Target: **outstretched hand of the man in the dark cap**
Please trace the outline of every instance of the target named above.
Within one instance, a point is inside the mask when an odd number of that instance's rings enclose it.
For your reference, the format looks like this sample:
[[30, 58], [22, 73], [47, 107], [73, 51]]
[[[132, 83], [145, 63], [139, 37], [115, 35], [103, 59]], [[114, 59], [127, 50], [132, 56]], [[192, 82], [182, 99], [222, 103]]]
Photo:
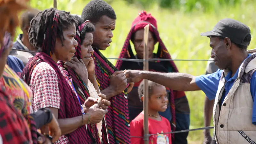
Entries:
[[124, 74], [128, 83], [137, 83], [143, 79], [140, 70], [126, 70]]

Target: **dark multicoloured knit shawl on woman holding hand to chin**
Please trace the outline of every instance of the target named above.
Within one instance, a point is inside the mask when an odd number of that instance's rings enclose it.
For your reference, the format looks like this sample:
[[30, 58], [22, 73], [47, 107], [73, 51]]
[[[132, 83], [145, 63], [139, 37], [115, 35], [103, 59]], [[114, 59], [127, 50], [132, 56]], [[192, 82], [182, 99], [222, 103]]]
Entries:
[[[77, 57], [77, 59], [82, 59], [81, 56], [81, 39], [80, 39], [80, 32], [82, 31], [82, 29], [84, 28], [85, 24], [81, 24], [76, 28], [76, 41], [78, 43], [77, 47], [76, 47], [76, 53], [75, 53], [75, 57]], [[84, 101], [90, 97], [90, 93], [89, 90], [87, 88], [87, 86], [84, 84], [84, 82], [81, 80], [81, 78], [76, 74], [76, 72], [70, 68], [70, 67], [64, 67], [64, 63], [62, 61], [58, 62], [58, 65], [63, 69], [63, 72], [68, 76], [71, 77], [72, 79], [72, 83], [74, 84], [74, 87], [76, 89], [76, 92], [79, 96], [81, 105], [84, 104]], [[105, 124], [103, 122], [102, 127], [105, 127]], [[92, 136], [94, 138], [94, 140], [96, 141], [96, 144], [100, 144], [100, 138], [99, 138], [99, 133], [97, 130], [97, 125], [96, 124], [88, 124], [87, 128], [89, 128], [90, 132], [92, 133]], [[104, 131], [105, 130], [105, 131]], [[106, 128], [102, 129], [102, 144], [107, 144], [108, 140], [107, 140], [107, 135], [106, 135]]]

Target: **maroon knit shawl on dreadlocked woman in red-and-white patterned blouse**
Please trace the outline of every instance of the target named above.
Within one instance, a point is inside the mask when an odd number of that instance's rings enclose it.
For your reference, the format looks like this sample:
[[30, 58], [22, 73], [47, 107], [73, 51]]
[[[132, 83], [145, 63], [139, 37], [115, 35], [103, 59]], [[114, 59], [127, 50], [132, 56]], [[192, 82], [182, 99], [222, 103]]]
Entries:
[[[44, 36], [42, 46], [43, 52], [37, 52], [36, 55], [28, 61], [26, 67], [21, 73], [21, 78], [23, 78], [23, 80], [29, 85], [32, 72], [36, 65], [40, 62], [48, 63], [55, 70], [58, 77], [58, 87], [60, 92], [60, 109], [58, 109], [58, 119], [81, 116], [81, 105], [76, 97], [76, 94], [72, 91], [59, 67], [50, 56], [55, 48], [59, 24], [59, 12], [56, 11], [51, 18], [53, 20], [52, 25], [48, 26]], [[66, 136], [68, 136], [70, 144], [91, 144], [91, 139], [87, 134], [85, 125], [79, 127], [74, 132], [66, 134]]]

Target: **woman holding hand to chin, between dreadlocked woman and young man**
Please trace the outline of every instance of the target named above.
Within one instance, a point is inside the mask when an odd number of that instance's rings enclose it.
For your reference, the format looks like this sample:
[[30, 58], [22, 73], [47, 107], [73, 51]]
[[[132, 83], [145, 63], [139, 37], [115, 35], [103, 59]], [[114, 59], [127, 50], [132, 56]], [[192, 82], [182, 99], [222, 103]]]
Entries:
[[[59, 61], [58, 65], [63, 69], [64, 73], [69, 77], [69, 79], [72, 80], [74, 89], [82, 103], [84, 103], [86, 99], [92, 97], [96, 99], [100, 96], [106, 99], [104, 94], [98, 94], [96, 92], [96, 95], [93, 95], [92, 91], [95, 91], [94, 87], [93, 89], [88, 89], [87, 87], [87, 85], [92, 84], [91, 81], [93, 81], [96, 82], [96, 84], [94, 84], [97, 86], [97, 90], [99, 91], [95, 75], [89, 75], [90, 77], [86, 77], [87, 79], [82, 79], [84, 77], [83, 75], [88, 75], [87, 68], [94, 72], [94, 62], [91, 57], [91, 54], [94, 52], [92, 49], [92, 32], [94, 31], [94, 26], [89, 22], [89, 20], [83, 22], [79, 16], [75, 16], [75, 18], [78, 21], [78, 24], [76, 25], [76, 40], [78, 45], [76, 47], [75, 57], [69, 62], [65, 62], [65, 64], [63, 61]], [[89, 62], [91, 65], [88, 65]], [[88, 80], [88, 78], [91, 79], [91, 81]], [[102, 100], [102, 103], [105, 105], [101, 105], [101, 107], [104, 109], [107, 108], [106, 106], [110, 105], [110, 102], [105, 99]], [[96, 124], [90, 124], [87, 125], [87, 127], [90, 128], [92, 136], [97, 144], [100, 144], [101, 140], [103, 144], [108, 143], [106, 126], [102, 129], [102, 122], [98, 123], [97, 126]]]

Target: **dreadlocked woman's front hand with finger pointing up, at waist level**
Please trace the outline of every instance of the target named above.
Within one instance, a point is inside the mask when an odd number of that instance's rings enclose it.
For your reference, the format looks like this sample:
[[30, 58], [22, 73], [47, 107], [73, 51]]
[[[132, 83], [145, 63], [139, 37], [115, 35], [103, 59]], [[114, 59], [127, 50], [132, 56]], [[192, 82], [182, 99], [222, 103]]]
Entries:
[[89, 123], [98, 124], [104, 118], [105, 114], [108, 113], [108, 109], [100, 109], [100, 105], [102, 104], [102, 98], [98, 99], [97, 104], [94, 104], [89, 108], [88, 114], [90, 116]]

